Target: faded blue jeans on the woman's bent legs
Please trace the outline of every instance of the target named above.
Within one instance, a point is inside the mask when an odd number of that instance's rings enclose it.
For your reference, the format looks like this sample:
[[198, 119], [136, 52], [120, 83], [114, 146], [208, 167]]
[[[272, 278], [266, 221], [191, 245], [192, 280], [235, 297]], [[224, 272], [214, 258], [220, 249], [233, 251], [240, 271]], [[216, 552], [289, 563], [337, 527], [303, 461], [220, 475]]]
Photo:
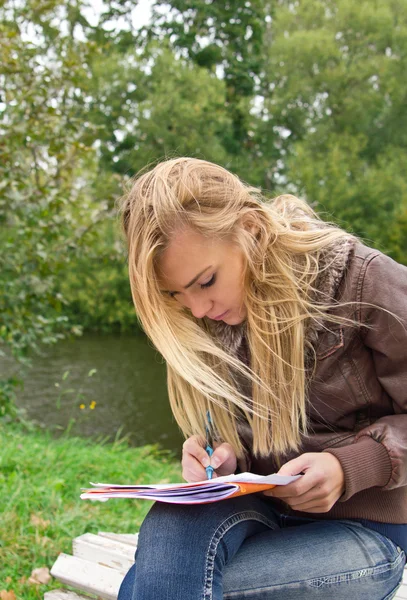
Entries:
[[290, 517], [256, 495], [156, 503], [118, 600], [389, 600], [404, 564], [358, 522]]

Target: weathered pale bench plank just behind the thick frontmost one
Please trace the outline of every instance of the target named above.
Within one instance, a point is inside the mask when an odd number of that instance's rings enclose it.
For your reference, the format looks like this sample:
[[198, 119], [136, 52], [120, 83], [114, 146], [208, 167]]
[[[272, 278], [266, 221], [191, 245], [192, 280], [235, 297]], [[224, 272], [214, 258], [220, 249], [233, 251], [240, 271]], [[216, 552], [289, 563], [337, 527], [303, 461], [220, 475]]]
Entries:
[[73, 555], [127, 573], [134, 563], [134, 548], [107, 537], [85, 533], [72, 542]]

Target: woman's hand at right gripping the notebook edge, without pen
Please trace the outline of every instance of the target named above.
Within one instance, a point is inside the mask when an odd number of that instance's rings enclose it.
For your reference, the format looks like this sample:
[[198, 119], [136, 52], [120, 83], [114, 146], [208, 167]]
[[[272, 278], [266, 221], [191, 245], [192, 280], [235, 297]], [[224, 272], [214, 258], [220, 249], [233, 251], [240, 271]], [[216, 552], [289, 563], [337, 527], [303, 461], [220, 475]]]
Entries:
[[345, 491], [345, 476], [339, 460], [329, 452], [308, 452], [290, 460], [279, 475], [299, 475], [297, 481], [264, 492], [280, 498], [294, 510], [328, 512]]

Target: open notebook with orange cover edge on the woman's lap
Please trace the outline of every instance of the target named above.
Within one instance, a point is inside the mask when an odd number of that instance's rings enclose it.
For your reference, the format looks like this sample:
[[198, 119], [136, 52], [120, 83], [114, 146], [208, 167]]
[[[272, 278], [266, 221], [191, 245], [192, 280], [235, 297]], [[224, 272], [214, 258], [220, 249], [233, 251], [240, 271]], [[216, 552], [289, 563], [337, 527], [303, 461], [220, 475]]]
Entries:
[[206, 504], [226, 498], [254, 494], [269, 490], [276, 485], [286, 485], [301, 477], [283, 475], [254, 475], [239, 473], [215, 479], [205, 479], [196, 483], [164, 483], [157, 485], [115, 485], [111, 483], [91, 483], [91, 489], [84, 490], [82, 500], [109, 500], [109, 498], [144, 498], [168, 502], [170, 504]]

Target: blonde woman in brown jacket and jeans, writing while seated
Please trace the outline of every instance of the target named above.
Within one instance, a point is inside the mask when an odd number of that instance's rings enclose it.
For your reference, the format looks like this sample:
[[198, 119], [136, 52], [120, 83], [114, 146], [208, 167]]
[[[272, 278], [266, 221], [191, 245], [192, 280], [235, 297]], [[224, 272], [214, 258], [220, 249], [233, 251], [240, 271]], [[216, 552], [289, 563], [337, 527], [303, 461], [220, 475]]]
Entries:
[[392, 598], [407, 548], [407, 268], [197, 159], [138, 177], [122, 215], [184, 478], [209, 464], [302, 477], [154, 505], [119, 600]]

